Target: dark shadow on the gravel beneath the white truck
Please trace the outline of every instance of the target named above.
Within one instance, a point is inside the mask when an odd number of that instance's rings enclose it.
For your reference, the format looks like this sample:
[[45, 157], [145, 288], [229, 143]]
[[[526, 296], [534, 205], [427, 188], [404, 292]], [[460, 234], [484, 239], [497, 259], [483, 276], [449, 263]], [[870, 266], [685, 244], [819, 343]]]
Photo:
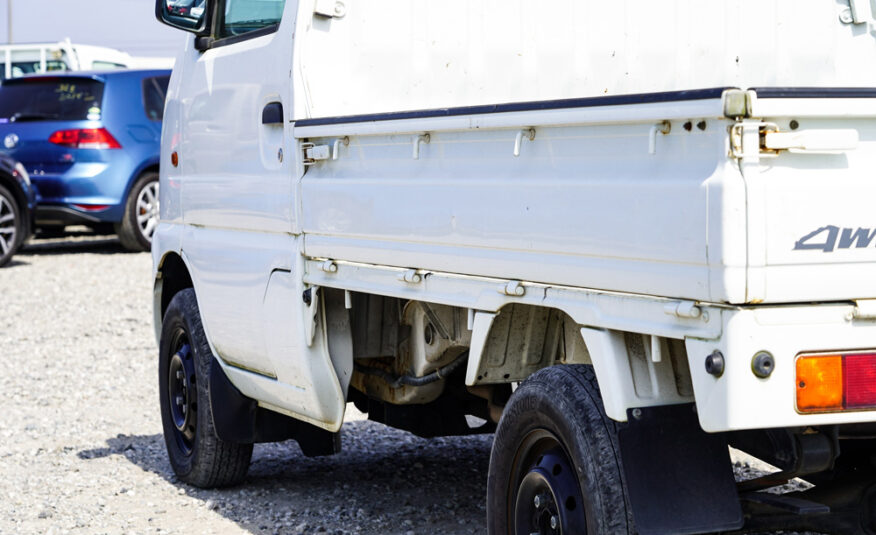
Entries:
[[256, 445], [246, 482], [219, 490], [176, 479], [161, 435], [118, 435], [78, 456], [122, 456], [253, 534], [485, 533], [492, 435], [427, 440], [356, 421], [342, 440], [321, 458], [294, 441]]

